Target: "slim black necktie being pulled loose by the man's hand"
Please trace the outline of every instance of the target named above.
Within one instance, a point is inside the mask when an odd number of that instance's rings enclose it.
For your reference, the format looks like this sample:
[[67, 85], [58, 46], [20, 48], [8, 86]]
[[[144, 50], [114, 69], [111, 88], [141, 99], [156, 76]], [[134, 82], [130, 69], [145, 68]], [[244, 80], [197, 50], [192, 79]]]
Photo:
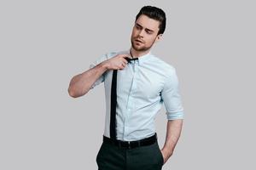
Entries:
[[[129, 63], [131, 60], [136, 60], [137, 58], [125, 58]], [[117, 71], [113, 70], [112, 84], [111, 84], [111, 105], [110, 105], [110, 138], [116, 140], [116, 78]]]

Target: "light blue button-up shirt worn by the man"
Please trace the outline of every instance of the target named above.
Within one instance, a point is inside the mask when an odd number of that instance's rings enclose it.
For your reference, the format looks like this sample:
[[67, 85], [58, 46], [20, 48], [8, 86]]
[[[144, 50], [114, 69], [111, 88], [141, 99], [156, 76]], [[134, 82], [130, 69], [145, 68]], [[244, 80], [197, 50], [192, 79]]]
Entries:
[[[117, 54], [130, 54], [130, 50], [105, 54], [96, 59], [90, 68]], [[104, 82], [106, 118], [104, 136], [110, 137], [110, 101], [113, 71], [99, 77], [90, 89]], [[154, 135], [154, 118], [162, 104], [168, 120], [183, 119], [183, 106], [178, 91], [176, 70], [172, 65], [150, 52], [131, 60], [117, 74], [117, 139], [133, 141]]]

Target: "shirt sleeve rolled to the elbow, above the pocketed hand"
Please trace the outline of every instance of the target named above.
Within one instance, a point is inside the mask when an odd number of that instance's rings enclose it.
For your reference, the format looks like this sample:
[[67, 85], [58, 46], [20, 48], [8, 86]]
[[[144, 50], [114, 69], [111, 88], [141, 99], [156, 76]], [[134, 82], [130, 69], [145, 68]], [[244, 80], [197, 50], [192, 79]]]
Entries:
[[161, 99], [166, 107], [168, 120], [183, 119], [183, 105], [178, 83], [176, 70], [173, 68], [161, 91]]

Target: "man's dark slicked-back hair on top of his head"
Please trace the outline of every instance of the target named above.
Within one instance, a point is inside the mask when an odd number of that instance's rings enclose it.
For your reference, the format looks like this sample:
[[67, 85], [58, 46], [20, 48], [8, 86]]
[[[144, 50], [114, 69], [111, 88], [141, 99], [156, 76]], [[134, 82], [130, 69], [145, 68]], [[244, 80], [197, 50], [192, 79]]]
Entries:
[[136, 16], [136, 20], [140, 15], [145, 14], [151, 19], [160, 21], [159, 34], [163, 34], [166, 30], [166, 13], [161, 9], [153, 6], [144, 6]]

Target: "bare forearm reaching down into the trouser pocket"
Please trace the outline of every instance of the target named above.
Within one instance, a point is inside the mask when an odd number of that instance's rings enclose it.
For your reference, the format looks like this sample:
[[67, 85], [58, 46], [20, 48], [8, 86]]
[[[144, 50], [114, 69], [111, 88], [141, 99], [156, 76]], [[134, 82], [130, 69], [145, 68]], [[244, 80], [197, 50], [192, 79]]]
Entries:
[[164, 144], [164, 147], [161, 150], [165, 163], [172, 156], [174, 148], [180, 137], [182, 126], [183, 126], [182, 119], [169, 120], [167, 122], [166, 143]]

